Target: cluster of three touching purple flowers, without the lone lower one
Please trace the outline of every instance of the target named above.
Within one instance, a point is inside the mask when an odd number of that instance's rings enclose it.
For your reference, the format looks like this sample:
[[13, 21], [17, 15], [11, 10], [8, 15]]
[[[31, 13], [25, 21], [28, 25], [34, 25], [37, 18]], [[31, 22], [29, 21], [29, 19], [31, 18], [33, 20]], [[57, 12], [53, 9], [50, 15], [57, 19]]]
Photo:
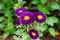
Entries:
[[15, 12], [17, 16], [20, 16], [19, 22], [23, 25], [30, 25], [34, 20], [39, 23], [46, 20], [46, 15], [42, 12], [28, 12], [25, 8], [19, 8]]

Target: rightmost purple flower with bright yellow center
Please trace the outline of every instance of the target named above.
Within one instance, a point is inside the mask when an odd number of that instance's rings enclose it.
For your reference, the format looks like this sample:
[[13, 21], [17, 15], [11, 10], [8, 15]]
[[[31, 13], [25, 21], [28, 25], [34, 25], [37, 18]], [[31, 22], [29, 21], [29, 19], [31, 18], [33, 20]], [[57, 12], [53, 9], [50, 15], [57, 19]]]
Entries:
[[46, 20], [46, 15], [43, 14], [42, 12], [34, 12], [34, 19], [37, 21], [37, 22], [44, 22]]

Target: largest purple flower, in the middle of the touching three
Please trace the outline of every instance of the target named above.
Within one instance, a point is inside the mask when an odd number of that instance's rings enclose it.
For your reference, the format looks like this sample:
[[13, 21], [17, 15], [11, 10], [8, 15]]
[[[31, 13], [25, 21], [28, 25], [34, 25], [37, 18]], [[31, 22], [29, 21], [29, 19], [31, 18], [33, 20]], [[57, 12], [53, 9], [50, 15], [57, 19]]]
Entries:
[[19, 21], [23, 25], [30, 25], [34, 22], [33, 14], [31, 12], [24, 12], [19, 18]]

